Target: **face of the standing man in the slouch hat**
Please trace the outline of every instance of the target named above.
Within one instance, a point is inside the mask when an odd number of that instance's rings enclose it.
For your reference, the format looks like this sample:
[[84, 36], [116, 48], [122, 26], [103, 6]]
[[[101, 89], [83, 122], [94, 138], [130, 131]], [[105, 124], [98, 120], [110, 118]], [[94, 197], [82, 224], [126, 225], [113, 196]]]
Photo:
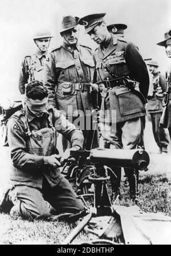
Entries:
[[73, 29], [67, 30], [62, 33], [64, 42], [68, 44], [76, 44], [79, 38], [79, 27], [76, 26]]

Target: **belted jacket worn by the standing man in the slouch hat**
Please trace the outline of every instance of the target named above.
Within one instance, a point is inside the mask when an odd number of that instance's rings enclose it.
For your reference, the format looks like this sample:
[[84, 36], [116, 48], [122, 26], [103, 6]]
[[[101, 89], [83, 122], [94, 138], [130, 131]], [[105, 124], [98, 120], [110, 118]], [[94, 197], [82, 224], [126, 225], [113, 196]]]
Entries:
[[[95, 64], [91, 48], [78, 44], [71, 47], [65, 43], [52, 50], [44, 67], [44, 84], [49, 92], [49, 103], [59, 110], [72, 113], [94, 108], [90, 94]], [[86, 84], [85, 87], [80, 85]], [[72, 114], [71, 113], [71, 114]]]

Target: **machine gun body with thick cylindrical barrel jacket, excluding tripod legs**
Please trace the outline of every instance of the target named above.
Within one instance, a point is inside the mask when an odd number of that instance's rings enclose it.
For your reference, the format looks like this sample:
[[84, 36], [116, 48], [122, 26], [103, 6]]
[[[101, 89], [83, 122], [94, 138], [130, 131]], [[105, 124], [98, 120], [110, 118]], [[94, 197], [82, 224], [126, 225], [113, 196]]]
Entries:
[[78, 194], [87, 194], [91, 190], [89, 174], [100, 176], [105, 172], [114, 176], [110, 166], [146, 170], [149, 164], [148, 153], [143, 149], [91, 149], [91, 151], [71, 151], [71, 157], [63, 166], [62, 173], [69, 181], [75, 181]]

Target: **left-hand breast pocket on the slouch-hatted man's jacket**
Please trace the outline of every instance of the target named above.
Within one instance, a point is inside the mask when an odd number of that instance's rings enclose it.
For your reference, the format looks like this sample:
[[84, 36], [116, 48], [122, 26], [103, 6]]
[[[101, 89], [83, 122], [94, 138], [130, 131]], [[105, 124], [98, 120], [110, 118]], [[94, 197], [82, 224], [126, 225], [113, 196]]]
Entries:
[[59, 82], [76, 82], [75, 63], [74, 60], [56, 63], [56, 73], [59, 75]]

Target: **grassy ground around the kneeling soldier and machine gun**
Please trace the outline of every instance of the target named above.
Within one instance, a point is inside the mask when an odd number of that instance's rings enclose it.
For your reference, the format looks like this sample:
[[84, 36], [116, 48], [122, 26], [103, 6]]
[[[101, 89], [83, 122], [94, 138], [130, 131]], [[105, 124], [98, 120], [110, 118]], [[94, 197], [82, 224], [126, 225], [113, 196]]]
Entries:
[[[148, 124], [149, 125], [149, 124]], [[171, 216], [171, 159], [169, 155], [156, 154], [157, 148], [151, 133], [146, 134], [147, 150], [150, 152], [150, 164], [148, 172], [140, 172], [140, 201], [139, 206], [144, 212], [162, 212]], [[149, 143], [149, 144], [148, 144]], [[169, 149], [170, 151], [170, 149]], [[9, 178], [8, 148], [0, 148], [0, 190]], [[120, 205], [131, 206], [129, 200], [129, 188], [124, 186], [124, 178], [121, 181]], [[8, 214], [0, 214], [0, 244], [34, 244], [34, 245], [60, 245], [64, 238], [70, 234], [74, 224], [66, 222], [48, 222], [27, 220], [12, 220]], [[74, 244], [81, 243], [89, 238], [81, 233]]]

